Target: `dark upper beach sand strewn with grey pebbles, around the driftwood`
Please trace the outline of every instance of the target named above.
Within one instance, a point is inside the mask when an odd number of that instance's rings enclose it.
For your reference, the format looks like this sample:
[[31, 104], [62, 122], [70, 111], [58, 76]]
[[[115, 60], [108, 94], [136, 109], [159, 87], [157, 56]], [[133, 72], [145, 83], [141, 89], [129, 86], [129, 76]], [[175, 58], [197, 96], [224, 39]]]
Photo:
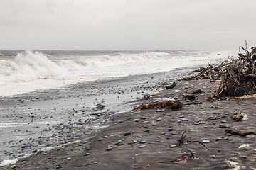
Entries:
[[[203, 93], [195, 96], [202, 104], [182, 98], [185, 91], [199, 88]], [[209, 80], [178, 81], [174, 89], [136, 102], [175, 98], [183, 103], [181, 111], [150, 109], [115, 114], [109, 127], [95, 136], [38, 152], [0, 169], [255, 169], [255, 135], [225, 135], [225, 130], [255, 131], [255, 98], [208, 101], [217, 88], [218, 82]], [[245, 118], [233, 120], [235, 111], [242, 111]], [[177, 140], [184, 131], [188, 139], [204, 141], [208, 149], [197, 142], [178, 147]], [[195, 156], [191, 161], [157, 164], [191, 152]]]

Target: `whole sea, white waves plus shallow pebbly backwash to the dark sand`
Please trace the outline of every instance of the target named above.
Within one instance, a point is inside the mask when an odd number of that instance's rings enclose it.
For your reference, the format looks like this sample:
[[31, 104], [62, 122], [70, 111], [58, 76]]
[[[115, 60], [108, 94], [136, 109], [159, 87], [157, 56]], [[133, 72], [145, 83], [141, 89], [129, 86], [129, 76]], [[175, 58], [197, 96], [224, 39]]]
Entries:
[[0, 51], [0, 166], [91, 137], [145, 93], [233, 54]]

